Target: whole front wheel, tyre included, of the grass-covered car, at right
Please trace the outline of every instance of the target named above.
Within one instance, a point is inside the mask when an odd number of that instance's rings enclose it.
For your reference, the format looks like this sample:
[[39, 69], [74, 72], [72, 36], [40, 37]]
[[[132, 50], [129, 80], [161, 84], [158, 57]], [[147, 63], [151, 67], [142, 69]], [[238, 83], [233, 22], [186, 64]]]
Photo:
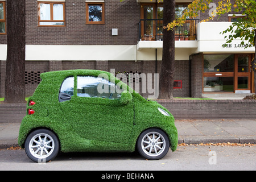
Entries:
[[147, 129], [139, 135], [137, 148], [139, 154], [148, 160], [163, 158], [169, 151], [170, 140], [160, 129]]

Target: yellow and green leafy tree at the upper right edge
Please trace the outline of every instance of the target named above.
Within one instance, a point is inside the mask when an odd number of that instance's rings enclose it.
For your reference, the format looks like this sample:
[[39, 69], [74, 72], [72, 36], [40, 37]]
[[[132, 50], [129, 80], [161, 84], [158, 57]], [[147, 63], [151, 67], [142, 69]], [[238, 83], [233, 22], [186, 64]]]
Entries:
[[[176, 18], [174, 21], [167, 24], [167, 30], [172, 30], [175, 26], [180, 26], [184, 24], [185, 17], [189, 16], [191, 18], [196, 18], [198, 12], [201, 11], [205, 13], [205, 10], [209, 9], [209, 5], [212, 5], [212, 0], [194, 0], [187, 9], [184, 10], [183, 14]], [[212, 11], [209, 11], [209, 17], [202, 20], [206, 22], [212, 20], [216, 15], [223, 15], [225, 13], [230, 13], [234, 8], [235, 12], [242, 11], [242, 15], [245, 15], [243, 18], [238, 18], [237, 22], [233, 22], [232, 26], [228, 29], [222, 31], [222, 34], [230, 32], [229, 36], [225, 36], [226, 43], [232, 42], [232, 40], [240, 38], [241, 44], [245, 45], [245, 48], [254, 46], [255, 47], [255, 56], [251, 63], [251, 67], [254, 70], [254, 88], [256, 92], [256, 2], [255, 0], [234, 0], [232, 4], [230, 0], [219, 1], [216, 8]], [[233, 15], [236, 16], [236, 15]], [[245, 42], [246, 41], [246, 42]]]

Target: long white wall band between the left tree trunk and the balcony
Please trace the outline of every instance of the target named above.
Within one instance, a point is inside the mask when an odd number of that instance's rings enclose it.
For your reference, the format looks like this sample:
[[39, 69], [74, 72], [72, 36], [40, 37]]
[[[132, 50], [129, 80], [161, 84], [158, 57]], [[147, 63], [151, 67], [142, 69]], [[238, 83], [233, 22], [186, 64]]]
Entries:
[[136, 46], [26, 45], [26, 60], [135, 60]]

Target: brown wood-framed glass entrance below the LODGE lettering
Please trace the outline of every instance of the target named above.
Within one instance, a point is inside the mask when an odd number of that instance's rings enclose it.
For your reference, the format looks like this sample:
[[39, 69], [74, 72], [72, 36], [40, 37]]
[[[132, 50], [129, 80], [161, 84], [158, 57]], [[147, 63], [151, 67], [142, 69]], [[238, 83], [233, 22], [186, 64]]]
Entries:
[[204, 93], [250, 93], [251, 55], [204, 55]]

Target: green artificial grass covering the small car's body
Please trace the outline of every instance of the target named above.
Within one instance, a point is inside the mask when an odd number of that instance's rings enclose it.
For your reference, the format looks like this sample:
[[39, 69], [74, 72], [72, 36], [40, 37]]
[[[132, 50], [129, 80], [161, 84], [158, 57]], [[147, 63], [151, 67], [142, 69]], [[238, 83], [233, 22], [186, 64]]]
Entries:
[[[121, 85], [121, 99], [89, 98], [77, 96], [77, 76], [105, 74], [109, 80]], [[59, 102], [63, 80], [74, 76], [74, 95], [71, 100]], [[172, 151], [177, 147], [177, 129], [174, 117], [156, 101], [147, 101], [109, 72], [95, 70], [72, 70], [42, 73], [42, 81], [29, 101], [35, 114], [26, 115], [20, 125], [19, 145], [24, 147], [27, 135], [38, 128], [56, 133], [63, 152], [77, 151], [126, 151], [135, 150], [137, 138], [142, 131], [155, 127], [162, 129], [170, 139]], [[130, 92], [132, 91], [132, 92]], [[159, 112], [158, 107], [170, 116]]]

